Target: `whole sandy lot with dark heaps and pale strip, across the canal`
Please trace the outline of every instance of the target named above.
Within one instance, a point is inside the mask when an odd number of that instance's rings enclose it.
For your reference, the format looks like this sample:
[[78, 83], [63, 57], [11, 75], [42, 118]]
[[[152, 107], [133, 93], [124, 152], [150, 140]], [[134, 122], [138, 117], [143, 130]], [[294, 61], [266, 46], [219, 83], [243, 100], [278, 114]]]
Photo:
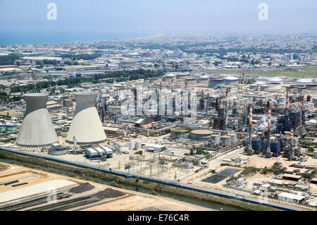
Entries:
[[211, 209], [137, 191], [0, 163], [0, 210], [196, 211]]

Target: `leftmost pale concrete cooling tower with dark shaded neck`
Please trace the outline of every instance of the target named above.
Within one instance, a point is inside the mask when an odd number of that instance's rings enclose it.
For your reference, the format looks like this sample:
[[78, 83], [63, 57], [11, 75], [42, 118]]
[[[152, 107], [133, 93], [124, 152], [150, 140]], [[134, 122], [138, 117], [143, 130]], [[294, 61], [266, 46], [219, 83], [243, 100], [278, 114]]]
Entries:
[[58, 138], [46, 109], [48, 94], [25, 94], [25, 116], [16, 145], [20, 147], [45, 147], [58, 142]]

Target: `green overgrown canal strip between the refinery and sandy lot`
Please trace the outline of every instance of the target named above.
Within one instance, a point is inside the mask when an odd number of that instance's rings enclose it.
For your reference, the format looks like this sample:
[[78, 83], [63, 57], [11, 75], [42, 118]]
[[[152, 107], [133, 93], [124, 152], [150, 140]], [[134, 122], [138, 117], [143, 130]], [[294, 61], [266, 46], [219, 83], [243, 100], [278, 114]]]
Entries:
[[[113, 185], [120, 185], [120, 183], [126, 183], [130, 185], [136, 185], [142, 188], [148, 188], [151, 190], [161, 190], [164, 193], [170, 193], [174, 195], [180, 195], [185, 197], [192, 197], [194, 199], [204, 200], [206, 202], [218, 202], [224, 205], [231, 205], [234, 207], [239, 207], [241, 209], [252, 210], [252, 211], [280, 211], [273, 207], [266, 207], [263, 205], [256, 205], [247, 202], [242, 202], [240, 200], [234, 200], [226, 197], [218, 197], [216, 195], [210, 195], [206, 193], [198, 193], [193, 190], [185, 190], [182, 188], [175, 188], [172, 186], [163, 186], [158, 185], [154, 182], [142, 181], [139, 183], [135, 182], [134, 178], [119, 178], [112, 174], [106, 174], [101, 171], [94, 171], [92, 169], [82, 169], [76, 166], [68, 166], [66, 164], [60, 164], [56, 162], [49, 162], [44, 159], [37, 159], [33, 157], [20, 156], [18, 154], [13, 154], [11, 152], [2, 152], [0, 151], [0, 159], [10, 159], [11, 164], [17, 164], [20, 166], [29, 167], [31, 169], [38, 169], [42, 171], [51, 172], [54, 174], [61, 174], [70, 176], [73, 178], [79, 178], [85, 181], [92, 181], [100, 183], [101, 179], [108, 181], [115, 181]], [[63, 169], [70, 172], [61, 172], [56, 169]], [[156, 190], [155, 190], [156, 188]]]

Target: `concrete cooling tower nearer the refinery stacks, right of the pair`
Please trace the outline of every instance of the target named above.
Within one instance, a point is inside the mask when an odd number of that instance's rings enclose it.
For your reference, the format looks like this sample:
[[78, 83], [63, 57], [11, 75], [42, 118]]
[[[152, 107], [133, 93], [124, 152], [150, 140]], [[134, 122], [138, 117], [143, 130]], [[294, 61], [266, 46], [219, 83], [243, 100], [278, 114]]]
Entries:
[[75, 99], [75, 114], [66, 142], [73, 143], [74, 137], [78, 144], [104, 142], [106, 134], [95, 107], [97, 92], [80, 92]]

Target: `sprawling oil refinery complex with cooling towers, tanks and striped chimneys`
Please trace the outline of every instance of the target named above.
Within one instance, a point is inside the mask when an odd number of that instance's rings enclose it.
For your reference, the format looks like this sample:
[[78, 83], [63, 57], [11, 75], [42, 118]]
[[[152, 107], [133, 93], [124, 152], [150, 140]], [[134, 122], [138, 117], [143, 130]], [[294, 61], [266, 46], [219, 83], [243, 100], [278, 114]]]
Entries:
[[175, 73], [25, 94], [1, 117], [1, 147], [316, 210], [317, 85], [249, 80]]

